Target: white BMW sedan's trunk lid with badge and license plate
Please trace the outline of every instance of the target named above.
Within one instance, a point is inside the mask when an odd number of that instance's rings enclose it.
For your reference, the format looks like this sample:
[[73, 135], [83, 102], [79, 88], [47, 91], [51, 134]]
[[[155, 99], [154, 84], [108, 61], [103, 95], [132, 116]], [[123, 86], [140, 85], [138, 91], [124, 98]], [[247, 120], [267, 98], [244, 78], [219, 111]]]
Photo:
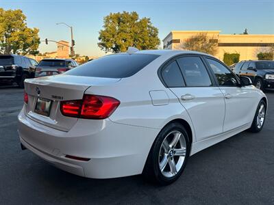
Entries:
[[60, 101], [81, 100], [88, 87], [109, 85], [119, 80], [63, 74], [27, 79], [25, 92], [28, 95], [28, 103], [25, 105], [25, 114], [28, 118], [45, 126], [60, 131], [69, 131], [78, 119], [62, 115]]

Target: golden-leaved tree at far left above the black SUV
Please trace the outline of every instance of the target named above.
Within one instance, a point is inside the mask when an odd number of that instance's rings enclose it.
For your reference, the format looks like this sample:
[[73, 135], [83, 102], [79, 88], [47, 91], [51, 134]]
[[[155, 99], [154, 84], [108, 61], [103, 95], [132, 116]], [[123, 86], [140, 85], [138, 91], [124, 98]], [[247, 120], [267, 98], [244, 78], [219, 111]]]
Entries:
[[0, 53], [38, 54], [39, 29], [29, 28], [22, 10], [0, 8]]

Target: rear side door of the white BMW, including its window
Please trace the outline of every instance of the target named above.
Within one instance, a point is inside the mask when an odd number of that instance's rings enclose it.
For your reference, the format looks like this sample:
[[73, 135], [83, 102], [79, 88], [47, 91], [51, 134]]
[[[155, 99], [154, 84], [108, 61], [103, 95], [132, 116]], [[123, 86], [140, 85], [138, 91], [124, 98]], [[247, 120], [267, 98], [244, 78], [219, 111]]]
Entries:
[[184, 79], [182, 87], [170, 87], [188, 111], [195, 127], [197, 141], [223, 132], [225, 102], [219, 87], [208, 72], [203, 59], [197, 55], [177, 57], [162, 72], [179, 69]]

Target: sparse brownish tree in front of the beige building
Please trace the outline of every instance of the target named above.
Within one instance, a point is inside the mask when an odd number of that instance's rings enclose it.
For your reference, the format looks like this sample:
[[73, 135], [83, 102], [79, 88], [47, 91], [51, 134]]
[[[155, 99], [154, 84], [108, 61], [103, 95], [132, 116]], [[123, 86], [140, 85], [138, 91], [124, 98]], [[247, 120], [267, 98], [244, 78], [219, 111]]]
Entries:
[[216, 40], [214, 36], [208, 36], [206, 32], [201, 32], [191, 36], [182, 44], [179, 44], [177, 49], [199, 51], [215, 55], [218, 51], [218, 40]]

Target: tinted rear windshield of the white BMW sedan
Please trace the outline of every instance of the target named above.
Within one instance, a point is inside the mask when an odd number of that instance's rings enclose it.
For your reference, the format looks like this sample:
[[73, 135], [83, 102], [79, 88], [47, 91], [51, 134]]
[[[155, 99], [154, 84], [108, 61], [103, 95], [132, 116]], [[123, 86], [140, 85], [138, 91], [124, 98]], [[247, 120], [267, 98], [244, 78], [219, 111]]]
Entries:
[[137, 53], [106, 55], [69, 70], [66, 74], [114, 79], [126, 78], [134, 75], [157, 57], [159, 55]]

